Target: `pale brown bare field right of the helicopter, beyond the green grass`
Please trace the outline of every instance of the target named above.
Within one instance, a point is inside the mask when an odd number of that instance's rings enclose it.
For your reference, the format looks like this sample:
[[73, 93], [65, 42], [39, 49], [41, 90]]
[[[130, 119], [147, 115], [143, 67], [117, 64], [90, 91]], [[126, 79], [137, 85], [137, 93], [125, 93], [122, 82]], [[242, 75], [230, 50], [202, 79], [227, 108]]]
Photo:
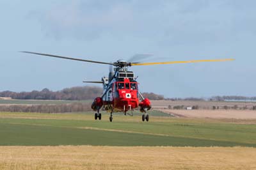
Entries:
[[[158, 111], [172, 114], [176, 117], [184, 118], [214, 118], [214, 119], [256, 119], [256, 111], [251, 110], [256, 105], [255, 102], [209, 102], [209, 101], [170, 101], [170, 100], [153, 100], [153, 109]], [[184, 107], [192, 107], [198, 105], [197, 110], [186, 110], [186, 109], [168, 109], [168, 106], [184, 105]], [[223, 106], [234, 107], [237, 105], [239, 108], [247, 107], [248, 109], [215, 109], [212, 110], [212, 106]]]

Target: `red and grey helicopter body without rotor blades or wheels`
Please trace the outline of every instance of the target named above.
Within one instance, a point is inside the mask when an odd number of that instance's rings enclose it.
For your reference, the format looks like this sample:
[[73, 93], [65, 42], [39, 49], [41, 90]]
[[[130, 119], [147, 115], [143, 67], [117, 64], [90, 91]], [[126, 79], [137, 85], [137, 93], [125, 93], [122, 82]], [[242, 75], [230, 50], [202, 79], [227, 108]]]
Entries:
[[[110, 82], [108, 82], [110, 80]], [[139, 92], [138, 82], [134, 79], [134, 73], [127, 69], [117, 70], [113, 77], [102, 77], [103, 95], [95, 98], [92, 109], [99, 112], [124, 112], [134, 111], [141, 107], [141, 112], [151, 109], [150, 100], [144, 99]], [[141, 102], [140, 102], [141, 100]]]

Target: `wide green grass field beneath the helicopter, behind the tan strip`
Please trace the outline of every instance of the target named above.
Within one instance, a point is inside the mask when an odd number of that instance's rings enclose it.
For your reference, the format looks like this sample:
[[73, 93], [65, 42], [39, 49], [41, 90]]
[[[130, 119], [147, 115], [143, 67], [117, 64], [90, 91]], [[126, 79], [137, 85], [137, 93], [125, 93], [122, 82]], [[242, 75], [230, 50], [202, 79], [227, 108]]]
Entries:
[[256, 125], [230, 120], [172, 118], [93, 112], [70, 114], [0, 113], [0, 146], [256, 146]]

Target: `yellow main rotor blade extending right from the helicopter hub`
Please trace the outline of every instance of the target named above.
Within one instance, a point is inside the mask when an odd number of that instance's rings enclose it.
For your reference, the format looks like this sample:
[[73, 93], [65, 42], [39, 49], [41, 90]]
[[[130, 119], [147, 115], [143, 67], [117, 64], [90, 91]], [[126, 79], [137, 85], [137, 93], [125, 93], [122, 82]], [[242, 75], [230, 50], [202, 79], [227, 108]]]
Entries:
[[201, 62], [220, 62], [220, 61], [234, 61], [235, 59], [200, 59], [190, 61], [167, 61], [158, 63], [131, 63], [131, 66], [145, 66], [145, 65], [172, 65], [178, 63], [201, 63]]

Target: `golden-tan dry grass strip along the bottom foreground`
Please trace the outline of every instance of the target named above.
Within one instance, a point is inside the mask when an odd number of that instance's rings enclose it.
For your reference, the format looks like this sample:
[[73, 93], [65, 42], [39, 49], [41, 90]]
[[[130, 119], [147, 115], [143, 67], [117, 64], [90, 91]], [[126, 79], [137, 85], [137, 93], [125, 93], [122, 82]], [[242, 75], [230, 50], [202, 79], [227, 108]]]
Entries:
[[256, 169], [256, 148], [0, 146], [0, 169]]

